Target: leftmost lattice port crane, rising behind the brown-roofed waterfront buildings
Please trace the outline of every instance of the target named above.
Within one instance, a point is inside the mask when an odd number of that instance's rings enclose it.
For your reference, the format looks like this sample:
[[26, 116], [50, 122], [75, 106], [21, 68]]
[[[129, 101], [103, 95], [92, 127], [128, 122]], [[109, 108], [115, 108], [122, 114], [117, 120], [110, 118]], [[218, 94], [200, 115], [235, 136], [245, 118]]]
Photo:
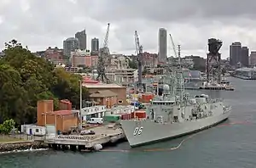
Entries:
[[105, 59], [109, 59], [109, 49], [108, 49], [108, 33], [109, 33], [109, 26], [110, 24], [108, 23], [108, 28], [107, 32], [105, 35], [105, 39], [102, 45], [102, 49], [99, 52], [99, 59], [97, 62], [97, 72], [98, 76], [96, 77], [96, 80], [101, 80], [102, 82], [109, 83], [109, 79], [105, 74]]

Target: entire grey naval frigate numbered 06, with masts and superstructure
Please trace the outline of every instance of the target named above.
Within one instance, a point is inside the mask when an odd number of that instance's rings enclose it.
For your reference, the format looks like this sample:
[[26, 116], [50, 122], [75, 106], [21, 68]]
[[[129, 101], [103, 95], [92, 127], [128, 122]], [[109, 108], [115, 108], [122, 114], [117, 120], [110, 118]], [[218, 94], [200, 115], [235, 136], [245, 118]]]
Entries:
[[152, 99], [145, 119], [120, 120], [131, 147], [199, 132], [230, 116], [231, 107], [223, 99], [206, 94], [191, 98], [184, 92], [181, 69], [168, 70], [161, 80], [163, 93]]

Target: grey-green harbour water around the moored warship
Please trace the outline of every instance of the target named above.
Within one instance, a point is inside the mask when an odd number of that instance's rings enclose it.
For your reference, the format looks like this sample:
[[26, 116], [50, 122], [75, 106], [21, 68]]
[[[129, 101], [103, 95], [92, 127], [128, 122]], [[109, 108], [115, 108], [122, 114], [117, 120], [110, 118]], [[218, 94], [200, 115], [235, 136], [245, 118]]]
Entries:
[[[230, 81], [236, 87], [235, 91], [200, 91], [213, 98], [224, 98], [232, 105], [230, 119], [221, 126], [195, 134], [193, 137], [181, 137], [135, 149], [130, 149], [128, 143], [120, 143], [116, 147], [96, 153], [34, 151], [0, 154], [0, 167], [255, 168], [256, 81], [236, 78], [230, 78]], [[175, 148], [181, 142], [183, 143], [179, 148]], [[145, 148], [150, 150], [145, 151]], [[156, 150], [157, 148], [161, 149]]]

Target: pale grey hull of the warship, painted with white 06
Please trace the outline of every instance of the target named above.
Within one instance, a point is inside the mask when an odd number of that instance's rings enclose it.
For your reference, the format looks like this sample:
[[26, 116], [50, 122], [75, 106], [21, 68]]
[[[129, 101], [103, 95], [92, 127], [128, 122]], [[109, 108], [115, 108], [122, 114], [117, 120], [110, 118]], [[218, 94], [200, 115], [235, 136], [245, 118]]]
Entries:
[[[230, 116], [230, 110], [224, 114], [212, 115], [205, 119], [178, 122], [173, 124], [160, 124], [151, 120], [121, 120], [121, 125], [125, 132], [131, 147], [145, 145], [147, 143], [155, 143], [175, 137], [181, 137], [193, 132], [199, 132], [210, 126], [227, 120]], [[141, 129], [140, 133], [134, 130]], [[135, 135], [136, 134], [136, 135]], [[138, 135], [140, 134], [140, 135]]]

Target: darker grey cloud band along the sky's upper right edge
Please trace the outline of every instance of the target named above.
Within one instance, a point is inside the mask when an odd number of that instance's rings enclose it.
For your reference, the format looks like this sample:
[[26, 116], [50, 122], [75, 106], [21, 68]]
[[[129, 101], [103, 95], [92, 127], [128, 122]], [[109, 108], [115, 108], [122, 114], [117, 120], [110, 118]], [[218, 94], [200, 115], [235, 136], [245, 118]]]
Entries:
[[[179, 21], [195, 18], [219, 20], [238, 16], [255, 16], [254, 0], [95, 0], [102, 5], [90, 14], [97, 20], [146, 19], [155, 21]], [[79, 3], [81, 3], [79, 1]], [[110, 3], [111, 2], [111, 3]], [[95, 7], [94, 7], [95, 8]]]

